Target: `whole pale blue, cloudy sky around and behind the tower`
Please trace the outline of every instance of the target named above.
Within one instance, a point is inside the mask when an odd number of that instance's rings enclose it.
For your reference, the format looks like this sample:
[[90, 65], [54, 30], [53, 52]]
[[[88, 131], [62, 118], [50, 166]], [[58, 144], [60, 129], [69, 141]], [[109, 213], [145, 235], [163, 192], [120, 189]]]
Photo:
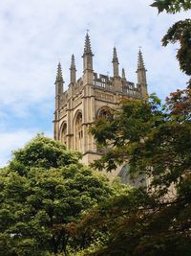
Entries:
[[1, 0], [0, 1], [0, 167], [11, 151], [38, 132], [53, 137], [54, 81], [58, 61], [65, 89], [74, 54], [77, 78], [89, 30], [94, 70], [112, 76], [113, 47], [128, 81], [137, 82], [138, 47], [148, 70], [149, 93], [160, 99], [185, 87], [188, 78], [176, 60], [179, 45], [160, 40], [190, 12], [160, 13], [152, 0]]

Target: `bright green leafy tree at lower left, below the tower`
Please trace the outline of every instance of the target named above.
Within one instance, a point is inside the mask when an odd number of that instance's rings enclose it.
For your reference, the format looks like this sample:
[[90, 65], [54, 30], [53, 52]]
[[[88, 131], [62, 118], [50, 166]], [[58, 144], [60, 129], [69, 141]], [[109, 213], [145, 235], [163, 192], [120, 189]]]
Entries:
[[42, 135], [14, 151], [0, 170], [0, 255], [67, 255], [73, 223], [112, 195], [107, 178], [79, 164], [79, 157]]

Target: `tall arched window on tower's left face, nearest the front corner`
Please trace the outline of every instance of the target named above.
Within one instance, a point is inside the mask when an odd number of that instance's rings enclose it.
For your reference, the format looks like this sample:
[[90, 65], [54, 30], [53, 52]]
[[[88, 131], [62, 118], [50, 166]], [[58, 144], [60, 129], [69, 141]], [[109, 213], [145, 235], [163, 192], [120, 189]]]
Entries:
[[81, 151], [83, 140], [82, 113], [78, 112], [75, 118], [75, 150]]

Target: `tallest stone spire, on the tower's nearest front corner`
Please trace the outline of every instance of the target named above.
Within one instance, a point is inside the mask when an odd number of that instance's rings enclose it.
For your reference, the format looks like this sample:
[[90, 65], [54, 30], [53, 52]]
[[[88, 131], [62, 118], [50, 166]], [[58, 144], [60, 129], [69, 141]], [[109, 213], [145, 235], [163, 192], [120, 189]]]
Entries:
[[91, 48], [90, 36], [87, 33], [85, 37], [84, 53], [83, 53], [83, 68], [85, 70], [93, 71], [93, 52]]

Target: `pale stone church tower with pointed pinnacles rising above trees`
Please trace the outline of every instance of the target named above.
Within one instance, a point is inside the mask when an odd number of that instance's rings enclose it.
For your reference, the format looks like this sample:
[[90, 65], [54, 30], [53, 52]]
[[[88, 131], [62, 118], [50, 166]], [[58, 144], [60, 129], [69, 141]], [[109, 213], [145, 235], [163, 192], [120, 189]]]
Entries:
[[146, 69], [138, 52], [138, 83], [127, 81], [125, 70], [119, 75], [117, 49], [113, 53], [113, 77], [94, 72], [90, 36], [86, 34], [83, 52], [83, 74], [76, 80], [74, 55], [70, 67], [70, 83], [64, 90], [61, 64], [58, 63], [55, 80], [54, 139], [68, 149], [81, 151], [82, 162], [90, 164], [100, 156], [94, 137], [88, 132], [98, 116], [117, 108], [121, 98], [144, 98], [147, 94]]

